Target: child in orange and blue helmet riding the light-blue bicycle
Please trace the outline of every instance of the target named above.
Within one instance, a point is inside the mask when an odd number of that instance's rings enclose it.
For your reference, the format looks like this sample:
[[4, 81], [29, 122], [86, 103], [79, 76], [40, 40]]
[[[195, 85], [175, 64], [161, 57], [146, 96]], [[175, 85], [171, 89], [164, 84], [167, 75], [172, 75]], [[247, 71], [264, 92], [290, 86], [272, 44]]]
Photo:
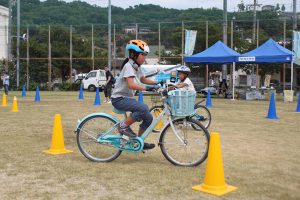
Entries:
[[[137, 135], [132, 131], [130, 125], [134, 122], [143, 121], [140, 124], [138, 136], [141, 136], [144, 131], [152, 123], [153, 117], [149, 112], [148, 106], [134, 99], [133, 90], [153, 91], [159, 86], [156, 81], [148, 79], [144, 76], [141, 65], [145, 62], [146, 56], [149, 53], [149, 46], [142, 40], [130, 40], [126, 45], [126, 50], [129, 52], [122, 65], [122, 71], [115, 83], [115, 88], [112, 92], [112, 105], [119, 110], [130, 111], [131, 115], [121, 122], [118, 126], [118, 131], [130, 138]], [[135, 82], [142, 82], [152, 86], [143, 86]], [[155, 144], [144, 143], [144, 149], [152, 149]]]

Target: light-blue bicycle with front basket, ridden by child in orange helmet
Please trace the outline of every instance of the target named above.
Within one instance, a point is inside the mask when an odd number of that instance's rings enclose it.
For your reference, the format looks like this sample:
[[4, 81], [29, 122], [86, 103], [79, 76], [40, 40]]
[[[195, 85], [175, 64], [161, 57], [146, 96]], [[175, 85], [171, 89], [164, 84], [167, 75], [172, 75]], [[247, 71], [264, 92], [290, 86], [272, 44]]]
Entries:
[[[140, 137], [128, 138], [121, 135], [117, 126], [121, 122], [113, 115], [93, 113], [84, 117], [77, 125], [77, 144], [80, 152], [89, 160], [110, 162], [125, 152], [143, 151], [144, 140], [153, 132], [155, 126], [164, 117], [168, 123], [160, 132], [158, 146], [164, 157], [174, 165], [197, 166], [207, 158], [209, 132], [193, 119], [195, 93], [192, 91], [160, 91], [163, 110], [152, 121]], [[115, 113], [126, 112], [113, 110]]]

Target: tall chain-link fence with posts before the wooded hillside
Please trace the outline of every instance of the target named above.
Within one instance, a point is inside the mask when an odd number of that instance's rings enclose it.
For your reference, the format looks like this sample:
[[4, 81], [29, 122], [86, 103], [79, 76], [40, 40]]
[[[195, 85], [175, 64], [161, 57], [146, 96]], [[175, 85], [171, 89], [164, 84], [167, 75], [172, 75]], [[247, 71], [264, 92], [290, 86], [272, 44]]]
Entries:
[[[272, 37], [291, 49], [291, 20], [228, 21], [227, 45], [244, 53]], [[7, 27], [0, 27], [7, 30]], [[223, 38], [223, 21], [153, 22], [145, 24], [112, 24], [112, 66], [117, 69], [126, 56], [125, 46], [131, 39], [142, 39], [150, 45], [147, 63], [178, 64], [183, 62], [184, 30], [197, 30], [194, 53], [205, 50]], [[1, 31], [3, 33], [3, 31]], [[22, 26], [20, 44], [20, 82], [47, 83], [71, 79], [74, 71], [88, 72], [107, 66], [107, 25]], [[11, 61], [16, 63], [16, 27], [12, 27]], [[2, 36], [1, 36], [2, 37]], [[8, 40], [7, 40], [8, 41]], [[205, 67], [193, 69], [205, 85]], [[211, 66], [209, 70], [218, 68]], [[28, 79], [27, 79], [28, 77]], [[14, 81], [14, 80], [13, 80]]]

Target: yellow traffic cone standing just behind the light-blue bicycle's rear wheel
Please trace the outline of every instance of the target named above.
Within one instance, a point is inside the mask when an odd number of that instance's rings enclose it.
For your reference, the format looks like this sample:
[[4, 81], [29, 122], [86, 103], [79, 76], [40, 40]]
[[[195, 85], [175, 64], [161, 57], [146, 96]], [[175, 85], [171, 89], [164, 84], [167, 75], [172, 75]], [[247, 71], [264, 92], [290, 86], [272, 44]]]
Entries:
[[67, 150], [64, 144], [64, 134], [61, 125], [61, 116], [60, 114], [56, 114], [54, 117], [54, 126], [52, 132], [52, 143], [49, 150], [44, 150], [44, 153], [57, 155], [70, 153], [73, 151]]

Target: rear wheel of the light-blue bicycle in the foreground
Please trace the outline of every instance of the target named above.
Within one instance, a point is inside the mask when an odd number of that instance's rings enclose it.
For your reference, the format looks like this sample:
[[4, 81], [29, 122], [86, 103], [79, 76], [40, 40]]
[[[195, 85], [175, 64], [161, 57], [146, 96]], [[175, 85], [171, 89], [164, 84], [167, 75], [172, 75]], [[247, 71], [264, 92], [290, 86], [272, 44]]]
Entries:
[[[77, 145], [80, 152], [89, 160], [96, 162], [110, 162], [122, 153], [110, 143], [101, 143], [97, 138], [107, 133], [117, 121], [107, 116], [95, 115], [85, 119], [77, 129]], [[118, 135], [114, 131], [110, 135]]]

